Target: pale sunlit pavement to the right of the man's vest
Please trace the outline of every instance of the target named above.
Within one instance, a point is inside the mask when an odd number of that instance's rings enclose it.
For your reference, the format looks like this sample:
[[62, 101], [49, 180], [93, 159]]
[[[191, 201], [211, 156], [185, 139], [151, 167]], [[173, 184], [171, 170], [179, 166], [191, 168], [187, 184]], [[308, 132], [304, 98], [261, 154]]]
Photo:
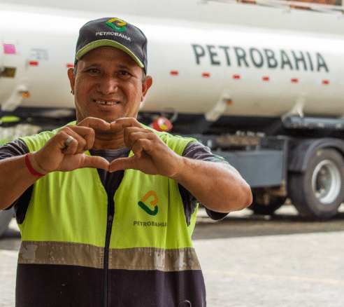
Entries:
[[344, 232], [196, 240], [210, 307], [344, 306]]

